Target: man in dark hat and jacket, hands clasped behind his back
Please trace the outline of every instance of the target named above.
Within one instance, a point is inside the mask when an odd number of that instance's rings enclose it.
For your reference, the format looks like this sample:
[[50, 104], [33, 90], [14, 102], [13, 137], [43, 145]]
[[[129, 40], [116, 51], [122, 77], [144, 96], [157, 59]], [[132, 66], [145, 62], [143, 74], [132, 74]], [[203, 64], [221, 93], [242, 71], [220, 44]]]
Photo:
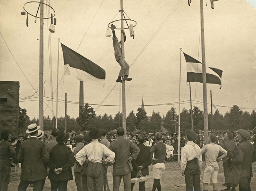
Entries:
[[71, 167], [74, 166], [75, 159], [71, 149], [65, 145], [68, 133], [60, 131], [56, 137], [57, 145], [50, 150], [48, 166], [50, 168], [48, 179], [51, 182], [51, 190], [67, 190], [68, 180], [73, 180]]

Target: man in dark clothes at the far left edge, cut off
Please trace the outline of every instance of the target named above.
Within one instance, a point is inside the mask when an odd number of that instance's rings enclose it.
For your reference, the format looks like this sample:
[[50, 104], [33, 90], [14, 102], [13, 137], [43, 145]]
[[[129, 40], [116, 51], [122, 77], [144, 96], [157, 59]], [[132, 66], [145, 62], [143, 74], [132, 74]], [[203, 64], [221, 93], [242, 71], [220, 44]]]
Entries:
[[7, 190], [10, 182], [11, 163], [15, 159], [15, 149], [8, 141], [10, 132], [4, 129], [0, 141], [0, 190]]

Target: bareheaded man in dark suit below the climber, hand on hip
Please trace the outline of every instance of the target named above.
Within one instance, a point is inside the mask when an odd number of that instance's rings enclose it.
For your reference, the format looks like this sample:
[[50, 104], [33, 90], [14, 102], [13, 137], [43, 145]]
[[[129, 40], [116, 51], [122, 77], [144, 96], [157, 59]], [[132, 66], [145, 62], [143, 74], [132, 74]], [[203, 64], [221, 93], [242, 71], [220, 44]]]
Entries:
[[[134, 143], [124, 138], [124, 128], [116, 130], [117, 139], [110, 143], [109, 149], [116, 153], [113, 165], [113, 191], [118, 191], [123, 177], [124, 190], [131, 191], [132, 159], [137, 158], [140, 149]], [[131, 154], [132, 153], [132, 154]]]

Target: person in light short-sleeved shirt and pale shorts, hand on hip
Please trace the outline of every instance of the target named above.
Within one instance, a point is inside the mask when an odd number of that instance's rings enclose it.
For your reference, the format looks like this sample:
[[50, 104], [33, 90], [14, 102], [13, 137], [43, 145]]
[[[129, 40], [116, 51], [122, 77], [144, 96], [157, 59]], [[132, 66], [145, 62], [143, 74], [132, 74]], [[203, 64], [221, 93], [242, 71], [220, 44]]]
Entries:
[[[217, 137], [211, 134], [208, 137], [209, 144], [203, 146], [201, 153], [205, 153], [206, 156], [206, 167], [204, 169], [204, 177], [203, 177], [203, 184], [204, 184], [204, 191], [208, 190], [208, 184], [212, 182], [213, 190], [218, 190], [218, 172], [219, 172], [219, 165], [217, 161], [227, 156], [227, 151], [223, 149], [220, 145], [215, 144], [217, 141]], [[219, 152], [223, 153], [222, 156], [218, 157]]]

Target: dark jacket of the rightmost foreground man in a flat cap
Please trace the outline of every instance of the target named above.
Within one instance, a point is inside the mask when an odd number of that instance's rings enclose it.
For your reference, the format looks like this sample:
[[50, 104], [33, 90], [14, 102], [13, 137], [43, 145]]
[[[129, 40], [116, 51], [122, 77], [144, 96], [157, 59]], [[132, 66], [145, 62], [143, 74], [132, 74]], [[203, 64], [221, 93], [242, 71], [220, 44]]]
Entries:
[[246, 139], [241, 140], [238, 146], [238, 154], [232, 160], [233, 164], [239, 165], [240, 178], [252, 177], [252, 163], [256, 161], [256, 149]]

